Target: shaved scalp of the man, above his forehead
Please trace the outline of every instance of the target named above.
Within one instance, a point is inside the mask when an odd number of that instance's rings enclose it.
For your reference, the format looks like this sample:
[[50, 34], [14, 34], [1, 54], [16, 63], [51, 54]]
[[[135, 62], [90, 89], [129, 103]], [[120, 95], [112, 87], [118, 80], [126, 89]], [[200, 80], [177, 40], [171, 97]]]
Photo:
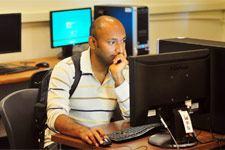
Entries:
[[97, 39], [98, 31], [107, 28], [108, 26], [120, 26], [124, 28], [118, 19], [112, 16], [100, 16], [91, 24], [90, 36]]

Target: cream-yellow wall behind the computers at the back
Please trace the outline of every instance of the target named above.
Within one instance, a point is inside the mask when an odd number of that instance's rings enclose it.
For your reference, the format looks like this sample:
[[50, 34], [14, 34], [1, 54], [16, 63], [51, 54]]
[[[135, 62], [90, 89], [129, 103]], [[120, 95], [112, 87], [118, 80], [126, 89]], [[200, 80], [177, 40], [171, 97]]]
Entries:
[[49, 11], [93, 7], [98, 4], [147, 5], [150, 7], [150, 48], [156, 40], [193, 37], [225, 41], [225, 0], [1, 0], [0, 13], [22, 13], [22, 52], [1, 54], [0, 63], [56, 56], [50, 47]]

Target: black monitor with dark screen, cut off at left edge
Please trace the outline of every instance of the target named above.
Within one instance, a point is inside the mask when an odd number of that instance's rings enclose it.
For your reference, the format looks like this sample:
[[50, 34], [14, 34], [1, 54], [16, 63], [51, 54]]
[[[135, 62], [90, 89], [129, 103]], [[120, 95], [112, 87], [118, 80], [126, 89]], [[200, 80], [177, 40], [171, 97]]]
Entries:
[[21, 52], [21, 14], [0, 14], [0, 53]]

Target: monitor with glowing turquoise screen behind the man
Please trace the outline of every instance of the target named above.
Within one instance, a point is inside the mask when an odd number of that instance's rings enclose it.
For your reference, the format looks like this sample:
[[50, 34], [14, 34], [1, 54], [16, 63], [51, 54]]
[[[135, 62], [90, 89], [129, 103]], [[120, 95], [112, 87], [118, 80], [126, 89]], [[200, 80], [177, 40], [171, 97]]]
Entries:
[[87, 43], [91, 8], [50, 11], [51, 47], [62, 47], [62, 58], [72, 56], [73, 46]]

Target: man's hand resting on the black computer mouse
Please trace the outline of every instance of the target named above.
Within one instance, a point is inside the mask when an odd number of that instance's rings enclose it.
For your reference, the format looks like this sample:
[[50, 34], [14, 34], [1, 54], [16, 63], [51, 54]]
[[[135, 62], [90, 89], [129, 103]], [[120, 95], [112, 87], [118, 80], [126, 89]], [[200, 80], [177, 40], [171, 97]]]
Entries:
[[80, 138], [88, 144], [93, 144], [96, 147], [99, 147], [99, 144], [103, 144], [102, 137], [108, 138], [101, 128], [89, 129], [83, 127], [80, 129]]

